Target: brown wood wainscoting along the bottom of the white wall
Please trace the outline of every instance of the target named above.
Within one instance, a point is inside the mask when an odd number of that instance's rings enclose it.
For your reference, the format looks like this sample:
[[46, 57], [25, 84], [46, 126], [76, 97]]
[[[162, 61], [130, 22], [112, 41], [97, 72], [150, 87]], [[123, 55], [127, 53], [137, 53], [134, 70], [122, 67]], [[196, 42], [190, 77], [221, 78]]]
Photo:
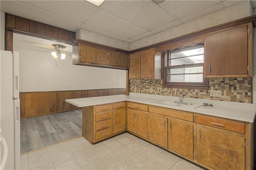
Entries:
[[20, 118], [29, 118], [79, 109], [66, 99], [125, 95], [126, 88], [74, 91], [20, 92]]

